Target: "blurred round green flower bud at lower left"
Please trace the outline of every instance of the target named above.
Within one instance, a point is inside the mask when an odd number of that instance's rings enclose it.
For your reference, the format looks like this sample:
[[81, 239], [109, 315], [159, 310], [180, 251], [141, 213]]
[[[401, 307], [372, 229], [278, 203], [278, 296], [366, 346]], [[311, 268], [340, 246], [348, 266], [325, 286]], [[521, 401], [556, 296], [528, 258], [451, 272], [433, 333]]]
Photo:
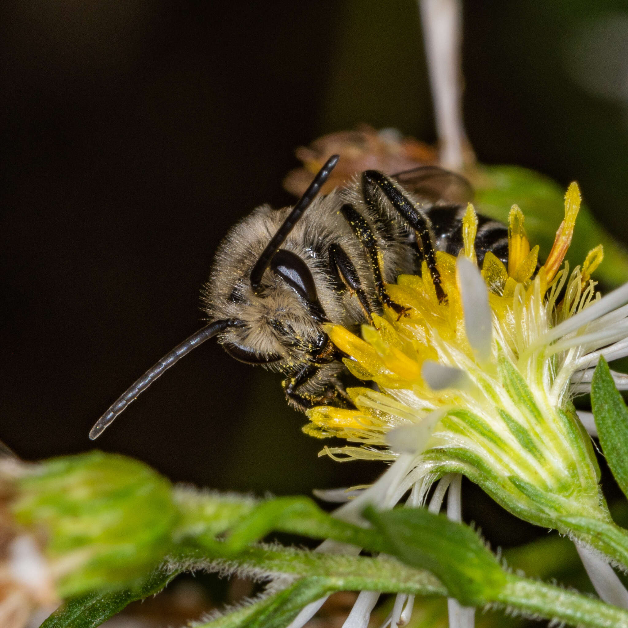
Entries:
[[177, 512], [171, 484], [121, 455], [52, 458], [19, 480], [16, 520], [48, 537], [62, 597], [119, 587], [166, 556]]

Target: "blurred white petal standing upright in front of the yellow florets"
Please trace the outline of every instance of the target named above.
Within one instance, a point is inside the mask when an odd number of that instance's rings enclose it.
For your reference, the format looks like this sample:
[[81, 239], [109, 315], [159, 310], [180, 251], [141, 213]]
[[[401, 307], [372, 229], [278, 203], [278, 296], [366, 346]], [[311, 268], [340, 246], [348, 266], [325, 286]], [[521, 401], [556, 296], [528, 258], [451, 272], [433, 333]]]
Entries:
[[492, 337], [489, 291], [479, 268], [467, 257], [458, 257], [456, 269], [469, 344], [480, 360], [488, 360]]

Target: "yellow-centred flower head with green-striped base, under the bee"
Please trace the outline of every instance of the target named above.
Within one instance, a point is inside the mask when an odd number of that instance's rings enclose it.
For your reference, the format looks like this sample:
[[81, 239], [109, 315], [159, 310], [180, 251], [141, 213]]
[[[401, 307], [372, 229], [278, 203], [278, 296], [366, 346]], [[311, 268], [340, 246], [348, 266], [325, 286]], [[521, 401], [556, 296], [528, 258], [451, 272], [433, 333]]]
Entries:
[[[628, 286], [604, 298], [596, 293], [590, 277], [602, 262], [601, 246], [573, 271], [564, 262], [579, 208], [572, 183], [565, 220], [539, 268], [538, 246], [530, 246], [514, 205], [507, 266], [489, 252], [480, 269], [469, 205], [460, 256], [436, 254], [446, 302], [439, 303], [424, 264], [421, 277], [402, 275], [387, 286], [408, 308], [399, 320], [385, 308], [361, 338], [329, 325], [334, 344], [350, 356], [349, 370], [377, 391], [349, 389], [354, 410], [310, 411], [306, 433], [352, 443], [321, 453], [391, 462], [410, 455], [399, 498], [414, 487], [421, 502], [435, 480], [462, 473], [543, 526], [572, 533], [565, 517], [610, 522], [590, 438], [571, 399], [590, 390], [600, 355], [628, 355], [628, 306], [621, 307]], [[625, 387], [626, 377], [614, 376]]]

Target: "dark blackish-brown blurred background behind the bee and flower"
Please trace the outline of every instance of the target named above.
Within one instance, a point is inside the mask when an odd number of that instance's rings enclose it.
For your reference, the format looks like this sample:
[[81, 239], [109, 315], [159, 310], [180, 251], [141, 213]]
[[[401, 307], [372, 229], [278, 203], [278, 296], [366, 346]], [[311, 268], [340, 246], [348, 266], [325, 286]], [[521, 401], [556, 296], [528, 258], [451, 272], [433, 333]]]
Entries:
[[[614, 11], [627, 3], [469, 1], [465, 119], [480, 161], [577, 179], [625, 240], [628, 100], [585, 89], [573, 61]], [[27, 459], [91, 448], [107, 406], [197, 330], [217, 244], [256, 205], [292, 202], [296, 146], [360, 122], [435, 140], [411, 0], [4, 0], [0, 13], [0, 434]], [[317, 460], [305, 422], [277, 376], [208, 342], [97, 445], [219, 489], [309, 493], [381, 471]]]

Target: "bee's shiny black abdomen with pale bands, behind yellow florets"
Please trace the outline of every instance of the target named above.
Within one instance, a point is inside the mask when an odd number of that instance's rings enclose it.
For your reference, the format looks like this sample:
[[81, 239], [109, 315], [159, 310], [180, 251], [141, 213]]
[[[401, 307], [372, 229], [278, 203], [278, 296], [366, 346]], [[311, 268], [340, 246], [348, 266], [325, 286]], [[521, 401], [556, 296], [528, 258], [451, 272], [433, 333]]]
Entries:
[[[438, 205], [427, 212], [438, 251], [445, 251], [453, 256], [458, 255], [464, 246], [462, 219], [466, 211], [467, 208], [461, 205]], [[497, 220], [478, 215], [475, 254], [480, 266], [488, 251], [492, 252], [504, 264], [507, 263], [508, 229], [506, 225], [497, 222]]]

